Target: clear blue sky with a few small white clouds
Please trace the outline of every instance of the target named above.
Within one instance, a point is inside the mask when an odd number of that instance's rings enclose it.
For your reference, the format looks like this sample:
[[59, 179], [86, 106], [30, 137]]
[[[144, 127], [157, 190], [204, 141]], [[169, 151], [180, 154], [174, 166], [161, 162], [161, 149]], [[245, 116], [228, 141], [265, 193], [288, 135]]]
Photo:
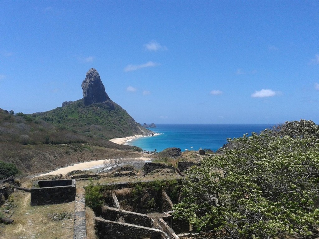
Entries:
[[139, 123], [319, 123], [318, 1], [0, 1], [0, 108], [81, 99]]

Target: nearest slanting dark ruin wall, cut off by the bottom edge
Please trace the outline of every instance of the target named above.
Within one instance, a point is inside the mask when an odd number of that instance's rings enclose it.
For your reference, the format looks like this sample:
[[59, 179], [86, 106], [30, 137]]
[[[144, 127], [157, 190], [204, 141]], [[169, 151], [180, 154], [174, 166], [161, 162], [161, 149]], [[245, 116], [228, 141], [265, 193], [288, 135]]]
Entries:
[[159, 229], [104, 220], [100, 217], [94, 217], [94, 221], [99, 239], [161, 239], [163, 234]]

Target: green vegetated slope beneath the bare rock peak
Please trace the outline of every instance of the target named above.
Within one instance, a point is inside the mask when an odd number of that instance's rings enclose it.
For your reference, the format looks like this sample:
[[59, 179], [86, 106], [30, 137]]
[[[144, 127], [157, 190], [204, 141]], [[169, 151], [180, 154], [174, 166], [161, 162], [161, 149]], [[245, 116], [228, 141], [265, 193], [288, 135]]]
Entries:
[[151, 134], [112, 100], [85, 105], [80, 99], [56, 109], [34, 113], [34, 119], [41, 119], [53, 125], [94, 139], [111, 139], [137, 134]]

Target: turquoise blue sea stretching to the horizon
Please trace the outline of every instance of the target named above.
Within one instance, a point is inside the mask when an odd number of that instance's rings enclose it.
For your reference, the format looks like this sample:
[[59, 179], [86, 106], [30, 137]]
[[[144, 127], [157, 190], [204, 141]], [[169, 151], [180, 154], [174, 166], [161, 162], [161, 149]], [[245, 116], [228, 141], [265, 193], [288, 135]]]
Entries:
[[177, 147], [198, 150], [199, 148], [217, 150], [226, 144], [227, 138], [242, 137], [251, 132], [260, 133], [272, 124], [159, 124], [149, 128], [158, 136], [134, 139], [128, 144], [146, 151], [157, 152], [165, 148]]

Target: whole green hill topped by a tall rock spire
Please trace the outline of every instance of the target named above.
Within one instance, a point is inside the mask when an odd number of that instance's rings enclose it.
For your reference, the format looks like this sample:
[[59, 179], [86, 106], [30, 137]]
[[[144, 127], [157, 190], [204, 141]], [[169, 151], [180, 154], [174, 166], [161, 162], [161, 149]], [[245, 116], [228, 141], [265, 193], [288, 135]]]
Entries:
[[62, 107], [34, 113], [32, 116], [94, 139], [152, 133], [138, 124], [128, 112], [109, 98], [96, 69], [91, 68], [86, 72], [81, 86], [82, 99], [65, 101]]

